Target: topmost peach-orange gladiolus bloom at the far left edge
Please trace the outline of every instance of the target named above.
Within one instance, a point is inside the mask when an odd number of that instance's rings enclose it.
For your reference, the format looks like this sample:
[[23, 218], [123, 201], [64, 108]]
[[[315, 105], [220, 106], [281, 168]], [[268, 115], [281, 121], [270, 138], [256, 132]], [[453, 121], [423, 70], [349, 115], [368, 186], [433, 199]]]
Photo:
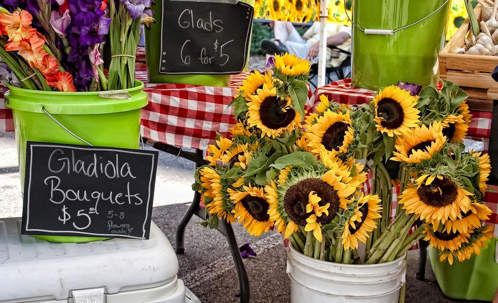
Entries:
[[33, 17], [26, 10], [14, 11], [11, 15], [0, 13], [0, 24], [8, 36], [8, 41], [21, 41], [32, 35], [31, 20]]

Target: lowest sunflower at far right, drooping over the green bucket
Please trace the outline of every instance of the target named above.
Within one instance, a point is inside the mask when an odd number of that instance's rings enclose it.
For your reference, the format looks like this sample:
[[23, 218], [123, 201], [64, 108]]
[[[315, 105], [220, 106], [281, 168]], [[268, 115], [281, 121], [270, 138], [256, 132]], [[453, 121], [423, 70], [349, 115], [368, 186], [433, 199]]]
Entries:
[[494, 228], [491, 225], [483, 226], [476, 229], [469, 238], [468, 243], [463, 243], [462, 246], [451, 251], [449, 249], [443, 250], [439, 255], [439, 261], [443, 262], [448, 259], [450, 265], [453, 264], [453, 257], [457, 258], [458, 261], [463, 262], [469, 260], [472, 254], [481, 255], [481, 248], [488, 248], [486, 242], [493, 239]]

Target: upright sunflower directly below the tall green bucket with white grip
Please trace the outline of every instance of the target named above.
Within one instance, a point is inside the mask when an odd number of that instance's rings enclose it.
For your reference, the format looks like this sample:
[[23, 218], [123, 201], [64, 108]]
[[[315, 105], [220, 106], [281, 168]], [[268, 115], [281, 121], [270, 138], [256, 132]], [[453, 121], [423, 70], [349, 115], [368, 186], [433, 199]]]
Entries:
[[411, 128], [419, 122], [420, 111], [415, 108], [418, 97], [396, 86], [380, 90], [373, 98], [375, 106], [376, 128], [389, 137], [411, 132]]

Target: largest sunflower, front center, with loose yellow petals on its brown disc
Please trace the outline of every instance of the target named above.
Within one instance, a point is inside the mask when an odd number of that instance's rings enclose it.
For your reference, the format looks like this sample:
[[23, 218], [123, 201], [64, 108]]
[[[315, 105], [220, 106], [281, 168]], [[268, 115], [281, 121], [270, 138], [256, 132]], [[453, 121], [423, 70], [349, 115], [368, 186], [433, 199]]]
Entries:
[[[300, 226], [306, 229], [312, 228], [315, 237], [319, 239], [316, 226], [332, 221], [339, 211], [339, 204], [355, 193], [356, 188], [343, 183], [342, 178], [338, 176], [340, 173], [334, 169], [325, 174], [298, 169], [295, 171], [296, 173], [293, 173], [294, 170], [291, 170], [285, 183], [277, 184], [271, 180], [265, 187], [270, 202], [268, 213], [275, 222], [277, 231], [285, 231], [285, 238]], [[315, 206], [312, 206], [313, 211], [308, 212], [310, 210], [308, 204], [316, 204], [321, 215], [317, 215]], [[328, 207], [323, 208], [326, 205]]]

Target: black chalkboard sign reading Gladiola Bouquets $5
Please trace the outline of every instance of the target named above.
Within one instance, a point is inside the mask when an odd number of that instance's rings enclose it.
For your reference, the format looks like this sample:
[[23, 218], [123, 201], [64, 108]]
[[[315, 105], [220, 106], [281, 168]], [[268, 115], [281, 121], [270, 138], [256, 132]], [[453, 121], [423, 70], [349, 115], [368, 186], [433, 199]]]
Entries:
[[157, 156], [28, 141], [21, 233], [148, 239]]

